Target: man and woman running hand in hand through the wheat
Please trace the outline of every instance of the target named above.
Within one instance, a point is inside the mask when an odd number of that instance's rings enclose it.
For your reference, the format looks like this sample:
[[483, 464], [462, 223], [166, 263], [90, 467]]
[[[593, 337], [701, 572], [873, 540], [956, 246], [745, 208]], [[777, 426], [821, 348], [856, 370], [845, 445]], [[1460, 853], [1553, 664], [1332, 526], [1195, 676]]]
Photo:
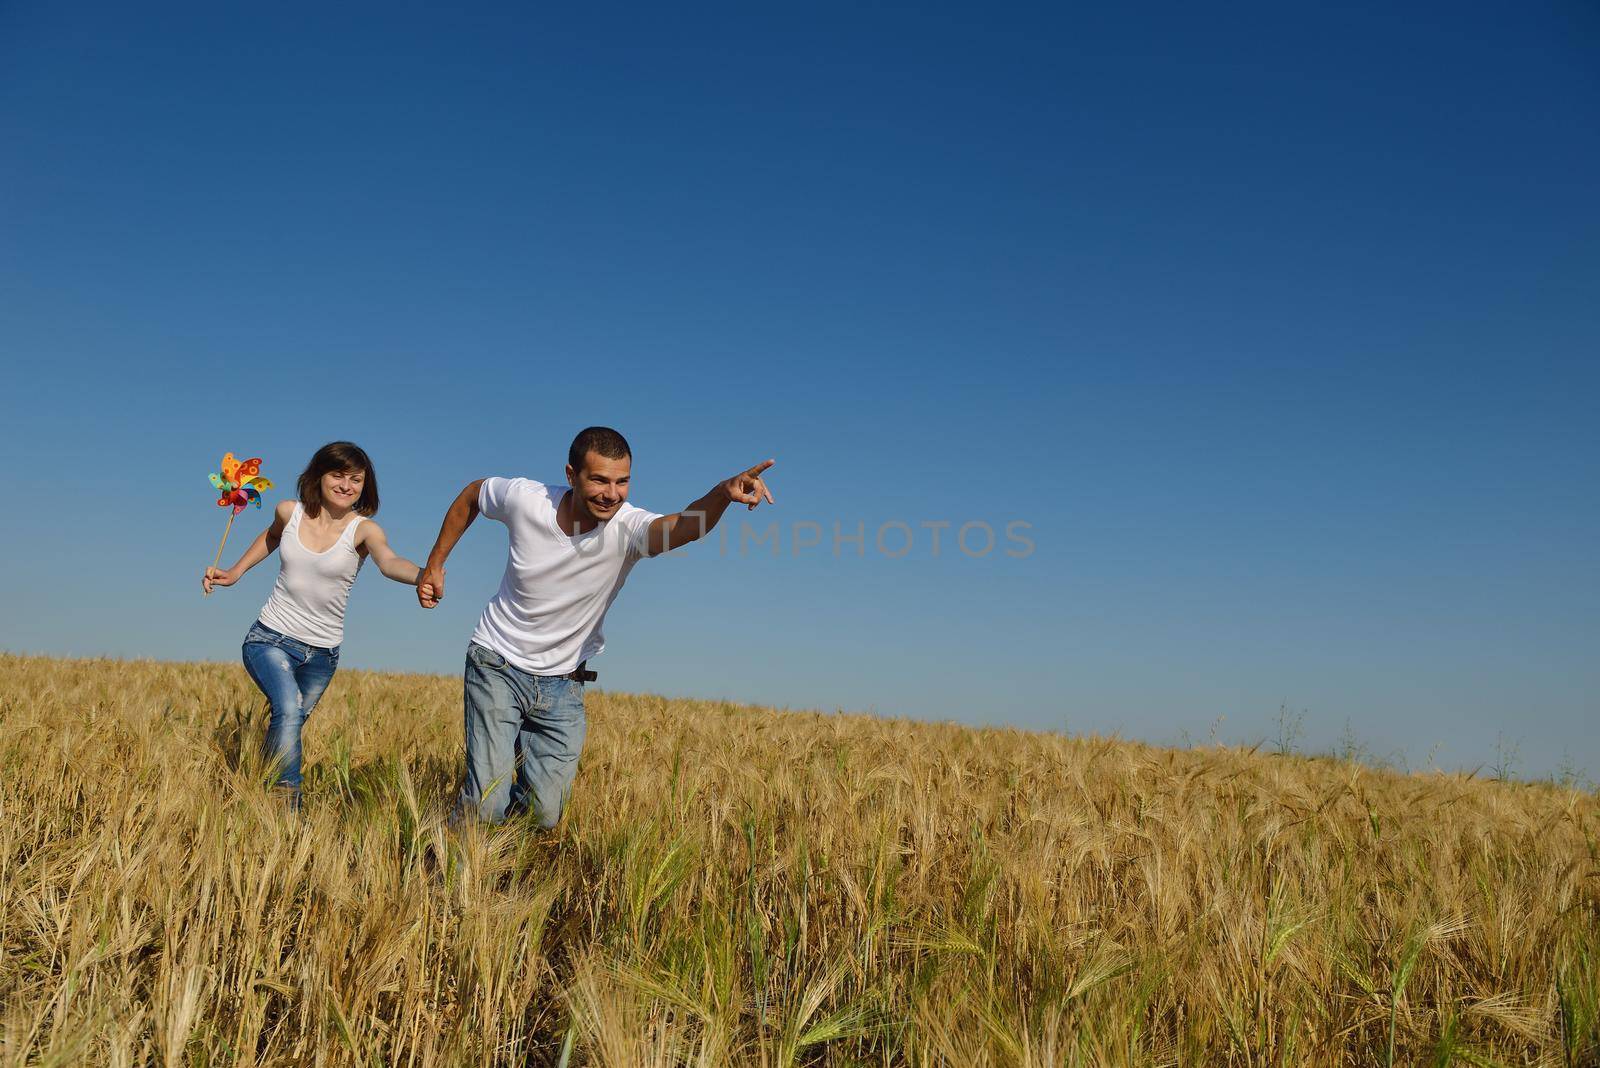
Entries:
[[555, 827], [584, 743], [586, 662], [605, 649], [606, 609], [634, 564], [704, 537], [730, 504], [755, 508], [773, 494], [765, 460], [718, 483], [682, 512], [658, 515], [627, 502], [632, 452], [621, 433], [589, 427], [566, 452], [566, 484], [480, 478], [445, 512], [438, 539], [418, 568], [389, 547], [378, 512], [378, 475], [358, 446], [317, 449], [299, 476], [298, 500], [277, 505], [272, 524], [227, 571], [206, 568], [210, 593], [229, 587], [278, 550], [278, 580], [245, 635], [245, 670], [272, 705], [266, 756], [294, 804], [301, 790], [301, 729], [339, 665], [344, 606], [368, 556], [418, 603], [445, 596], [445, 560], [482, 513], [504, 523], [510, 552], [499, 590], [467, 644], [464, 718], [467, 767], [456, 817], [499, 822], [533, 812]]

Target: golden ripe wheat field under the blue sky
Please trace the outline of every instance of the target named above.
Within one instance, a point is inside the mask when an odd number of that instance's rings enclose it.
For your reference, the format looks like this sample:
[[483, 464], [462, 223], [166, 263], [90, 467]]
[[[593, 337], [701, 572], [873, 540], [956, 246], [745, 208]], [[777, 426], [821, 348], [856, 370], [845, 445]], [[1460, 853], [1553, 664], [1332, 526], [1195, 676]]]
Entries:
[[1597, 1065], [1600, 799], [592, 692], [453, 831], [461, 681], [0, 656], [6, 1065]]

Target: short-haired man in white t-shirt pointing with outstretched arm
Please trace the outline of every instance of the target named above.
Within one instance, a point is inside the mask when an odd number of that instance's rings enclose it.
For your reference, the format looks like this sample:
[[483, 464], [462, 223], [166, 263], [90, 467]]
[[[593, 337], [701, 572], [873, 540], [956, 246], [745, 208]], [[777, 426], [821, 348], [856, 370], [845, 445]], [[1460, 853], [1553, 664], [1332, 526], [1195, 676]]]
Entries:
[[704, 537], [730, 504], [774, 504], [762, 481], [774, 460], [765, 460], [683, 512], [645, 512], [627, 504], [632, 459], [621, 433], [589, 427], [566, 451], [565, 486], [480, 478], [445, 513], [418, 579], [422, 608], [445, 596], [445, 560], [478, 513], [510, 531], [499, 592], [467, 644], [458, 817], [499, 822], [531, 809], [555, 827], [584, 745], [584, 683], [595, 678], [586, 662], [605, 649], [600, 628], [629, 571]]

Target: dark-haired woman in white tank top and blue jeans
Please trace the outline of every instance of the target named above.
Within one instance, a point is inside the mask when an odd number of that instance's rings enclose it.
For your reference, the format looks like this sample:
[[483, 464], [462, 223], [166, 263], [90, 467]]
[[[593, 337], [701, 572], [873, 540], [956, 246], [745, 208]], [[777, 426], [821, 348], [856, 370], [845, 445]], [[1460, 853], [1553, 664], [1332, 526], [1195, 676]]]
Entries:
[[299, 500], [283, 500], [272, 526], [256, 536], [227, 571], [206, 568], [200, 585], [238, 582], [278, 548], [278, 582], [245, 635], [245, 670], [272, 703], [266, 755], [293, 803], [301, 795], [301, 727], [339, 667], [344, 604], [362, 563], [371, 556], [395, 582], [416, 585], [421, 569], [389, 548], [378, 512], [378, 475], [358, 446], [333, 441], [317, 449], [299, 476]]

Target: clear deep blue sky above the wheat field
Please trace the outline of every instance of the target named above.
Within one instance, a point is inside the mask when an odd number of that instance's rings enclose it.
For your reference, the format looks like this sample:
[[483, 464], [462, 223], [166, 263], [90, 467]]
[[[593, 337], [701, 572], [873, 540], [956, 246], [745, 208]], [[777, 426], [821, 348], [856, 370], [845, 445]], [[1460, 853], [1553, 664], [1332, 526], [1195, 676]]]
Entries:
[[[1600, 775], [1592, 5], [458, 6], [0, 6], [0, 648], [237, 659], [224, 449], [358, 441], [421, 558], [598, 422], [784, 524], [605, 686]], [[458, 671], [502, 560], [344, 664]]]

